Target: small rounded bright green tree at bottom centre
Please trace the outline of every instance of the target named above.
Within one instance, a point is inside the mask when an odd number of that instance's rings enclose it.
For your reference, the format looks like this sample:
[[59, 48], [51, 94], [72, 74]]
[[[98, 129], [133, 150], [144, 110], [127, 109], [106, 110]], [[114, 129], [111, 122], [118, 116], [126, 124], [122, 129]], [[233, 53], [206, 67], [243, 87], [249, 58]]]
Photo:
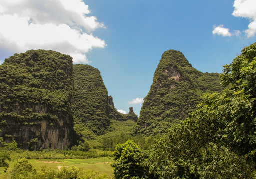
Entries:
[[139, 179], [144, 177], [143, 155], [132, 140], [117, 144], [113, 153], [115, 179]]

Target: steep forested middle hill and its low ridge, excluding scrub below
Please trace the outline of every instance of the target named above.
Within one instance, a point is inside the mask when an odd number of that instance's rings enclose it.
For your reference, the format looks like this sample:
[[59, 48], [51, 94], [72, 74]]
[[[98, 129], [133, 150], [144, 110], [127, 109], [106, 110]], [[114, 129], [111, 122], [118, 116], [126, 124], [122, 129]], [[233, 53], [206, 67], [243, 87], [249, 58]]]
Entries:
[[111, 120], [137, 120], [133, 111], [126, 115], [117, 112], [98, 69], [76, 64], [73, 65], [73, 77], [72, 110], [74, 130], [79, 138], [95, 139], [112, 130], [110, 126], [114, 121]]

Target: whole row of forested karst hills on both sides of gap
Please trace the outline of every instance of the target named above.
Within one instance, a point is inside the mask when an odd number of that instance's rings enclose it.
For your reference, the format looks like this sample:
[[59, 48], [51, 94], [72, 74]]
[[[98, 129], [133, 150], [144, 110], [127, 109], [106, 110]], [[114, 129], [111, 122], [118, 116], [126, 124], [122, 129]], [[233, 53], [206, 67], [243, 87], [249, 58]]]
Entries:
[[[126, 121], [136, 122], [137, 115], [132, 108], [126, 115], [117, 112], [98, 69], [72, 65], [70, 56], [45, 50], [15, 54], [0, 67], [1, 136], [9, 141], [14, 137], [19, 147], [64, 148], [71, 145], [72, 138], [73, 142], [96, 139], [97, 146], [112, 150], [122, 142], [116, 131], [123, 126], [127, 130], [123, 128], [122, 135], [134, 135], [132, 123]], [[165, 52], [145, 97], [135, 134], [166, 133], [195, 109], [204, 94], [222, 90], [218, 76], [194, 69], [179, 51]], [[147, 143], [146, 138], [140, 142]]]

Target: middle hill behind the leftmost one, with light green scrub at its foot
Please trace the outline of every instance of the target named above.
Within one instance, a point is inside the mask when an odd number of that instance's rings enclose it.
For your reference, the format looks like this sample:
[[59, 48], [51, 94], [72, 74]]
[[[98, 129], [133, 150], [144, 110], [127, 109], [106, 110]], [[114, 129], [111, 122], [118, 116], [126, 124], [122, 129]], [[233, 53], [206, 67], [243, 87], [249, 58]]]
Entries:
[[90, 65], [73, 65], [72, 111], [74, 130], [77, 136], [77, 150], [100, 148], [113, 150], [119, 142], [125, 142], [131, 136], [131, 127], [137, 121], [137, 115], [117, 112], [113, 98], [103, 83], [100, 71]]

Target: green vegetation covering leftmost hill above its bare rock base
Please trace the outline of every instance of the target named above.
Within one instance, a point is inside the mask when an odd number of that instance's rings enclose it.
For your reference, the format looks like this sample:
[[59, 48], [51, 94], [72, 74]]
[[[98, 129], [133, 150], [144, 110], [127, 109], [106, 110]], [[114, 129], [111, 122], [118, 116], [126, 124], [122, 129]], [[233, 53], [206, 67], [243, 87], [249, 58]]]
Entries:
[[[29, 50], [0, 65], [0, 118], [22, 122], [70, 114], [72, 58]], [[41, 110], [41, 111], [40, 111]]]

